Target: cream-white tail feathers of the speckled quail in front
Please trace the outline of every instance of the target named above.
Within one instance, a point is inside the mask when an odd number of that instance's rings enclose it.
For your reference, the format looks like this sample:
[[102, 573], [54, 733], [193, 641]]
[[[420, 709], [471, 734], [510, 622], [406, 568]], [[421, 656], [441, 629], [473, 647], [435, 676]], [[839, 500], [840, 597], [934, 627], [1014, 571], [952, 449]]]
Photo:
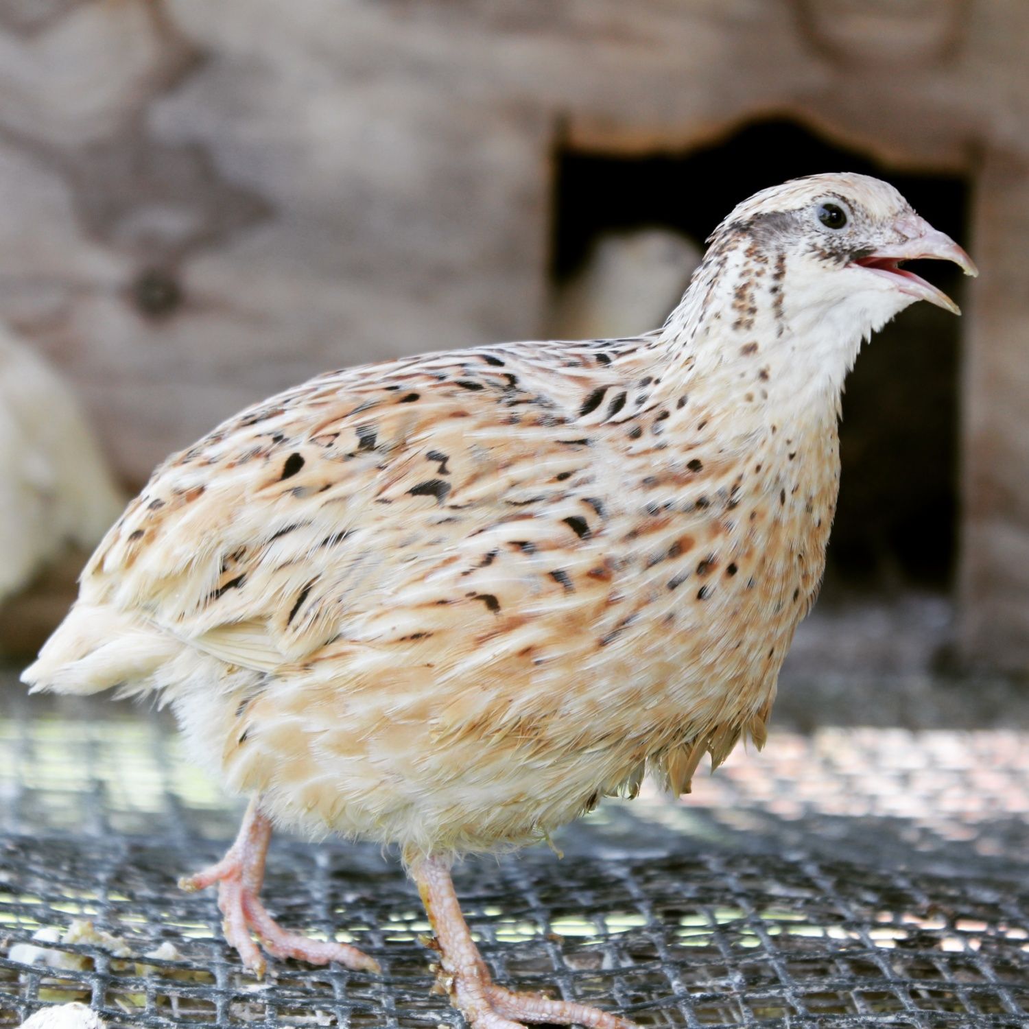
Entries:
[[32, 693], [97, 694], [144, 683], [181, 650], [174, 637], [121, 611], [79, 601], [22, 673]]

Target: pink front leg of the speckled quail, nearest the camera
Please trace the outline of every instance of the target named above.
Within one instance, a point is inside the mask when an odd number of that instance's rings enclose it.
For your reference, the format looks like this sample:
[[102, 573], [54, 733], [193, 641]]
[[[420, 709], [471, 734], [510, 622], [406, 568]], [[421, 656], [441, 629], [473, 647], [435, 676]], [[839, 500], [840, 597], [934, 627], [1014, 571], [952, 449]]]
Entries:
[[596, 1007], [495, 986], [461, 914], [450, 863], [439, 858], [420, 858], [412, 862], [411, 876], [435, 932], [439, 982], [471, 1029], [524, 1029], [526, 1022], [635, 1029], [632, 1022]]

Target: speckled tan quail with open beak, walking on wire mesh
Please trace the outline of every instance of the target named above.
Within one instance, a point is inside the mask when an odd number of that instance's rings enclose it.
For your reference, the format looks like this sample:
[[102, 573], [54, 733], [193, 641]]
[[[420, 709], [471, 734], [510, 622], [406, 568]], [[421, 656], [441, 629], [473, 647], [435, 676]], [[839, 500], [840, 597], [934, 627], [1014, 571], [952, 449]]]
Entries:
[[259, 899], [273, 826], [394, 846], [474, 1029], [626, 1029], [497, 985], [455, 861], [546, 841], [649, 773], [690, 787], [760, 746], [818, 592], [845, 376], [977, 270], [886, 182], [818, 174], [739, 204], [637, 338], [477, 346], [330, 371], [161, 465], [100, 543], [33, 689], [170, 704], [249, 807], [226, 938], [374, 970]]

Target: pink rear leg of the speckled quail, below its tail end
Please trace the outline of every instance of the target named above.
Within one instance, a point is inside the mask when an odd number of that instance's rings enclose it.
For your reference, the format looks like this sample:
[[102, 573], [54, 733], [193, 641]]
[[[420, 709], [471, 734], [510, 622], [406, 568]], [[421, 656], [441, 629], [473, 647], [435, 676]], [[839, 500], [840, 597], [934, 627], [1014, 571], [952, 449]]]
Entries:
[[276, 958], [297, 958], [310, 964], [338, 961], [348, 968], [379, 971], [379, 962], [349, 944], [311, 939], [283, 929], [260, 902], [264, 881], [264, 856], [272, 839], [272, 823], [257, 810], [254, 797], [243, 816], [236, 843], [216, 864], [179, 880], [184, 890], [203, 890], [218, 884], [218, 908], [225, 939], [236, 948], [243, 964], [258, 978], [264, 974], [264, 958], [250, 936], [253, 929], [264, 950]]

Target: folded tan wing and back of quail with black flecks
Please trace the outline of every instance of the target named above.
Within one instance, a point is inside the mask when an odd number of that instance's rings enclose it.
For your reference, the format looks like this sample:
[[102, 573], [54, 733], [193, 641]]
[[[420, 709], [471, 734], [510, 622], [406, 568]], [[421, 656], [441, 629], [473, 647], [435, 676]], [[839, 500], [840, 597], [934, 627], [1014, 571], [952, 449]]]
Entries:
[[540, 591], [560, 602], [619, 491], [577, 422], [612, 347], [555, 349], [331, 372], [243, 412], [157, 469], [82, 601], [260, 670], [431, 632], [458, 603], [509, 618]]

